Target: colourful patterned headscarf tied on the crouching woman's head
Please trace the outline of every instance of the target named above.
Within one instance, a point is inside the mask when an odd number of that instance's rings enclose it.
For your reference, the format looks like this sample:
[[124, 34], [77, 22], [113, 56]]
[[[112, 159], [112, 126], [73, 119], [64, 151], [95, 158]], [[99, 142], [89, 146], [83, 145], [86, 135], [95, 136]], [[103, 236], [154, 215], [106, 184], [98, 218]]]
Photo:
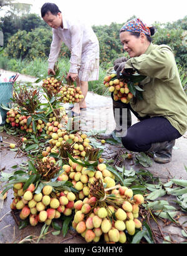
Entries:
[[143, 32], [144, 34], [151, 36], [149, 28], [151, 27], [146, 26], [146, 24], [143, 23], [140, 19], [132, 19], [131, 21], [128, 21], [122, 26], [122, 28], [120, 29], [120, 33], [123, 31], [137, 32], [137, 33]]

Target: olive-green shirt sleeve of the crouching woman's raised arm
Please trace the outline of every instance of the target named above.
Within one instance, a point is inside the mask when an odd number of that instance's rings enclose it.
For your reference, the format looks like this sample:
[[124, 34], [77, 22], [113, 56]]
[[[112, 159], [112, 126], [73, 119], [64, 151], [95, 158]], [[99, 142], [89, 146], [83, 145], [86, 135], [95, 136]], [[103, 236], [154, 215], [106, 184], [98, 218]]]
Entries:
[[153, 49], [150, 54], [141, 54], [128, 59], [125, 68], [132, 67], [138, 73], [169, 81], [175, 76], [175, 58], [169, 48]]

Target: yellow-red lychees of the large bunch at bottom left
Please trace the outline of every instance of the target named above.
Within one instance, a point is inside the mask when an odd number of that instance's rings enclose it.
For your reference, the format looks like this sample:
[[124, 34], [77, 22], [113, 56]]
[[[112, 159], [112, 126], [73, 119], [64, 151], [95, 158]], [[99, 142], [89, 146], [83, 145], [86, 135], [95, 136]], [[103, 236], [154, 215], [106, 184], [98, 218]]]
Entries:
[[23, 191], [24, 183], [14, 184], [14, 200], [11, 203], [12, 210], [21, 210], [21, 220], [29, 218], [32, 226], [38, 222], [50, 225], [53, 219], [60, 218], [61, 213], [65, 216], [72, 214], [75, 195], [72, 192], [53, 192], [50, 185], [42, 188], [42, 192], [35, 193], [35, 185], [31, 184]]

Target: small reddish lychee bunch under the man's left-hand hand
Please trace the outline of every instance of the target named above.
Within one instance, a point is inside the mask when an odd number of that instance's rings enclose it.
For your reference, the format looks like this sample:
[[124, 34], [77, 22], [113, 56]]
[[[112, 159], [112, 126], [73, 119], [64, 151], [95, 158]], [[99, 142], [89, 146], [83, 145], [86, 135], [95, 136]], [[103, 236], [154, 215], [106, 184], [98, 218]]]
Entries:
[[56, 95], [57, 93], [59, 93], [61, 81], [59, 79], [56, 79], [54, 76], [50, 76], [46, 79], [43, 79], [42, 86], [46, 88], [49, 93]]

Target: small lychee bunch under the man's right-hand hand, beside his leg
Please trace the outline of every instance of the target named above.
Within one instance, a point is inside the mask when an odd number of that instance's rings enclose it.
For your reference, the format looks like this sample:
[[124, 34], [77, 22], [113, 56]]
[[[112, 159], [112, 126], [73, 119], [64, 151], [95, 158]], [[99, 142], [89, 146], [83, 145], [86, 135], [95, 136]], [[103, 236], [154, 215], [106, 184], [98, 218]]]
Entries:
[[59, 91], [60, 101], [63, 103], [79, 103], [84, 99], [80, 87], [62, 86]]

